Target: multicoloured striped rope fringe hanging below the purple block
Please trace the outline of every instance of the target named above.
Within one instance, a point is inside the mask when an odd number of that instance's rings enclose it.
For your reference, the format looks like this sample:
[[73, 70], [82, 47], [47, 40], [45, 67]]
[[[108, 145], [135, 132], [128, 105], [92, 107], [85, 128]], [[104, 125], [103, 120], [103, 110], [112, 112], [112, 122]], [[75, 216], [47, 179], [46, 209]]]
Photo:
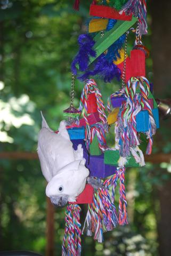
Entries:
[[[115, 206], [115, 188], [120, 179], [120, 197], [118, 214]], [[125, 168], [118, 169], [116, 174], [103, 182], [103, 187], [94, 192], [93, 203], [88, 205], [88, 211], [84, 223], [87, 227], [87, 235], [94, 233], [94, 239], [103, 241], [103, 233], [112, 230], [117, 225], [125, 225], [127, 221], [126, 196], [125, 196]], [[112, 195], [109, 191], [112, 187]]]

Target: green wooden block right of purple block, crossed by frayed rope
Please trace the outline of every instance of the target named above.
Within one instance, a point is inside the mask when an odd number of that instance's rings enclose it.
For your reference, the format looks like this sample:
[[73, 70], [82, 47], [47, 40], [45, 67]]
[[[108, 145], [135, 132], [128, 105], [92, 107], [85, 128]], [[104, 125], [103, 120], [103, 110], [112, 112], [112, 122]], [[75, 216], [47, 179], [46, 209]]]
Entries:
[[[104, 152], [104, 163], [109, 165], [118, 166], [119, 150], [106, 150]], [[125, 167], [140, 167], [139, 163], [136, 163], [133, 156], [127, 158], [128, 162]]]

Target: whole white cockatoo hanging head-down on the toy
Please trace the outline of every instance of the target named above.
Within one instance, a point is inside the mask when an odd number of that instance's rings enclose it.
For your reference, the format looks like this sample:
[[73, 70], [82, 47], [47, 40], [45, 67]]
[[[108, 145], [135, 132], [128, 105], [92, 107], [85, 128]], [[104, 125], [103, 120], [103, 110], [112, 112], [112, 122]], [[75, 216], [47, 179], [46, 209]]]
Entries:
[[48, 182], [46, 195], [51, 202], [58, 207], [75, 202], [85, 188], [89, 171], [85, 167], [82, 145], [78, 145], [77, 150], [72, 148], [65, 121], [61, 121], [59, 132], [55, 133], [42, 115], [37, 152]]

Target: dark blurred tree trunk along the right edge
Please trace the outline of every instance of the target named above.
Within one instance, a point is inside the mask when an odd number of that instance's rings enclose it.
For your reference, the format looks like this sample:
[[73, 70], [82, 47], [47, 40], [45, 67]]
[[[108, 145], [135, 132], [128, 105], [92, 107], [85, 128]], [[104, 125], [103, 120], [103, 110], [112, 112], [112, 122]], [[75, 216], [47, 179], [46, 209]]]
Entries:
[[[154, 97], [170, 98], [171, 84], [171, 1], [150, 1], [152, 15], [152, 59]], [[171, 118], [170, 118], [171, 119]], [[157, 144], [162, 150], [170, 139], [170, 119], [161, 121], [157, 132]], [[161, 170], [164, 172], [164, 170]], [[160, 204], [158, 238], [160, 256], [168, 256], [171, 251], [171, 180], [157, 189]]]

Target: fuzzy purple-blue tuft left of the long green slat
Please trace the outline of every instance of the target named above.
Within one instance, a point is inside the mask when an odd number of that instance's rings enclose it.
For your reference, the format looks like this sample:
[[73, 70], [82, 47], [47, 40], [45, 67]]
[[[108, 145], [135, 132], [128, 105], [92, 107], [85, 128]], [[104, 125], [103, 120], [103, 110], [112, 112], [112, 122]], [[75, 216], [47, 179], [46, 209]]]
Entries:
[[89, 57], [95, 57], [96, 52], [93, 50], [95, 44], [92, 37], [88, 34], [82, 34], [78, 37], [79, 52], [72, 61], [71, 70], [74, 75], [77, 74], [76, 65], [78, 63], [79, 70], [85, 71], [88, 68]]

